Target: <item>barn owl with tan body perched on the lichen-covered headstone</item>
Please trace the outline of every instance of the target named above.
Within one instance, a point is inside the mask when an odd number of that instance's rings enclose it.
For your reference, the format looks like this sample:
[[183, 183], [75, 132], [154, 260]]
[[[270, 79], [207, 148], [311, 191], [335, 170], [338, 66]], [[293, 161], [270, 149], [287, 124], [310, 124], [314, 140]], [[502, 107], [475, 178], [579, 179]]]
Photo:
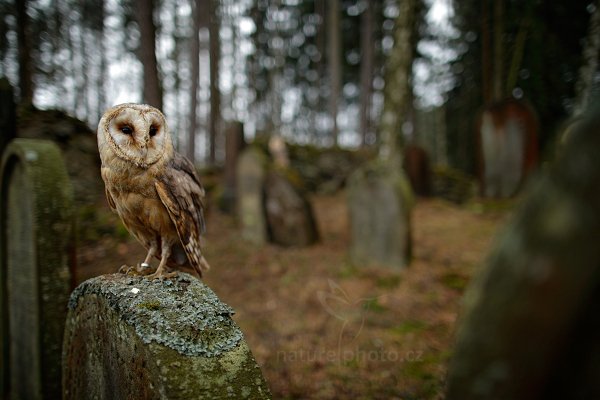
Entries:
[[110, 108], [98, 124], [101, 174], [110, 207], [148, 255], [160, 259], [151, 279], [209, 268], [200, 249], [204, 189], [192, 163], [173, 148], [164, 115], [145, 104]]

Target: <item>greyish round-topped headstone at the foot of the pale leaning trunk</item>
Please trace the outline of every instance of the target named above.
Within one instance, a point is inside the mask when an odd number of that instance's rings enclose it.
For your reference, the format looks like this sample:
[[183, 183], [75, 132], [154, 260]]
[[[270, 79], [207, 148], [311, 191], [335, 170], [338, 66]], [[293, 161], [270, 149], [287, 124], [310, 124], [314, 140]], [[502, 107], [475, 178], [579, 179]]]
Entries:
[[375, 160], [350, 176], [350, 258], [354, 264], [408, 265], [412, 201], [410, 183], [401, 168]]

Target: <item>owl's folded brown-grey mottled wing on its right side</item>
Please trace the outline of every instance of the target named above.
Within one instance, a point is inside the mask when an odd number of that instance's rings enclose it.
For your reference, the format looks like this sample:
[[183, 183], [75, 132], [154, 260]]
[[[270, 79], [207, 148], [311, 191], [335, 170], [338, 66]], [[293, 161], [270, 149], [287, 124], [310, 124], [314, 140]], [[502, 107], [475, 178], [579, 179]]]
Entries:
[[177, 228], [179, 240], [198, 275], [210, 268], [200, 249], [204, 233], [204, 189], [192, 163], [175, 153], [166, 172], [155, 183], [160, 200]]

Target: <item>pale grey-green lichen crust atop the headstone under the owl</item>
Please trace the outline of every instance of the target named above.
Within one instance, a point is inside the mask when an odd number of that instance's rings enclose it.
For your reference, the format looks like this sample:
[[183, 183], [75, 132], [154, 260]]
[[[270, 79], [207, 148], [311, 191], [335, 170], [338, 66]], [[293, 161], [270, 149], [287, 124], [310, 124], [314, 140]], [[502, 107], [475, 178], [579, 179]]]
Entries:
[[99, 276], [73, 291], [69, 308], [75, 309], [88, 295], [104, 298], [144, 343], [162, 344], [184, 355], [215, 357], [243, 337], [231, 319], [234, 310], [189, 274], [172, 280]]

